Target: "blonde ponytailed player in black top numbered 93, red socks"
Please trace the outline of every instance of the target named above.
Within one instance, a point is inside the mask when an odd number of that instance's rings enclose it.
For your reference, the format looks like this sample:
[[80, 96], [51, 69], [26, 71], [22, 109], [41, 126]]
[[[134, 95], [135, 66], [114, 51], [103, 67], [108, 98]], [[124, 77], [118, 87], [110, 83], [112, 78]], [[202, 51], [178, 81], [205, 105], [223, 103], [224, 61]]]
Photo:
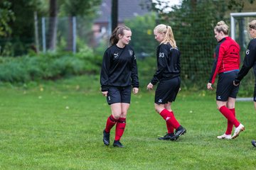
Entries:
[[[159, 82], [155, 92], [154, 107], [156, 112], [166, 120], [167, 134], [159, 140], [177, 140], [186, 133], [171, 110], [181, 86], [180, 51], [176, 47], [174, 34], [170, 26], [160, 24], [154, 28], [155, 39], [160, 43], [156, 49], [157, 70], [146, 89], [153, 89]], [[174, 133], [174, 129], [176, 132]]]

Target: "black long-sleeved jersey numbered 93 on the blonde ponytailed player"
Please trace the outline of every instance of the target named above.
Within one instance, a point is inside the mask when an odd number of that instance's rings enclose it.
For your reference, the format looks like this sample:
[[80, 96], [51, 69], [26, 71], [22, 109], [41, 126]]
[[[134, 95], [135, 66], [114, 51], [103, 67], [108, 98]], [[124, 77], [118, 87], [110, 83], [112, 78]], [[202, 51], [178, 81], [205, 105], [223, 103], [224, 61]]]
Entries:
[[181, 74], [181, 52], [178, 48], [171, 47], [169, 43], [161, 44], [156, 49], [157, 70], [151, 79], [151, 84], [156, 84], [161, 79], [172, 79]]

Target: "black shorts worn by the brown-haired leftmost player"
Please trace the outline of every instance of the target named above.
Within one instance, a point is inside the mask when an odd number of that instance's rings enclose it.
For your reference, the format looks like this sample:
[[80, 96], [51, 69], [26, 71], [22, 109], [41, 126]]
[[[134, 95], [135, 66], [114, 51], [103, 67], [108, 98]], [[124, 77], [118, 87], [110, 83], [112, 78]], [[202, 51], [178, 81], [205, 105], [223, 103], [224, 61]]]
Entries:
[[132, 87], [110, 87], [107, 92], [107, 103], [130, 103]]

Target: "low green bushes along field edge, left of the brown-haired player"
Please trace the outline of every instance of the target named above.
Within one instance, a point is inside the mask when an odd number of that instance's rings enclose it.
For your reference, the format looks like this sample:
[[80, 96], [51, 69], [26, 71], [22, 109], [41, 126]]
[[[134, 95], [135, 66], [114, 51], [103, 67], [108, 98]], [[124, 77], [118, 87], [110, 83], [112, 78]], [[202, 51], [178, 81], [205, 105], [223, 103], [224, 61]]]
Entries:
[[22, 57], [0, 57], [0, 81], [11, 83], [60, 79], [80, 74], [98, 73], [101, 57], [92, 51], [47, 53]]

